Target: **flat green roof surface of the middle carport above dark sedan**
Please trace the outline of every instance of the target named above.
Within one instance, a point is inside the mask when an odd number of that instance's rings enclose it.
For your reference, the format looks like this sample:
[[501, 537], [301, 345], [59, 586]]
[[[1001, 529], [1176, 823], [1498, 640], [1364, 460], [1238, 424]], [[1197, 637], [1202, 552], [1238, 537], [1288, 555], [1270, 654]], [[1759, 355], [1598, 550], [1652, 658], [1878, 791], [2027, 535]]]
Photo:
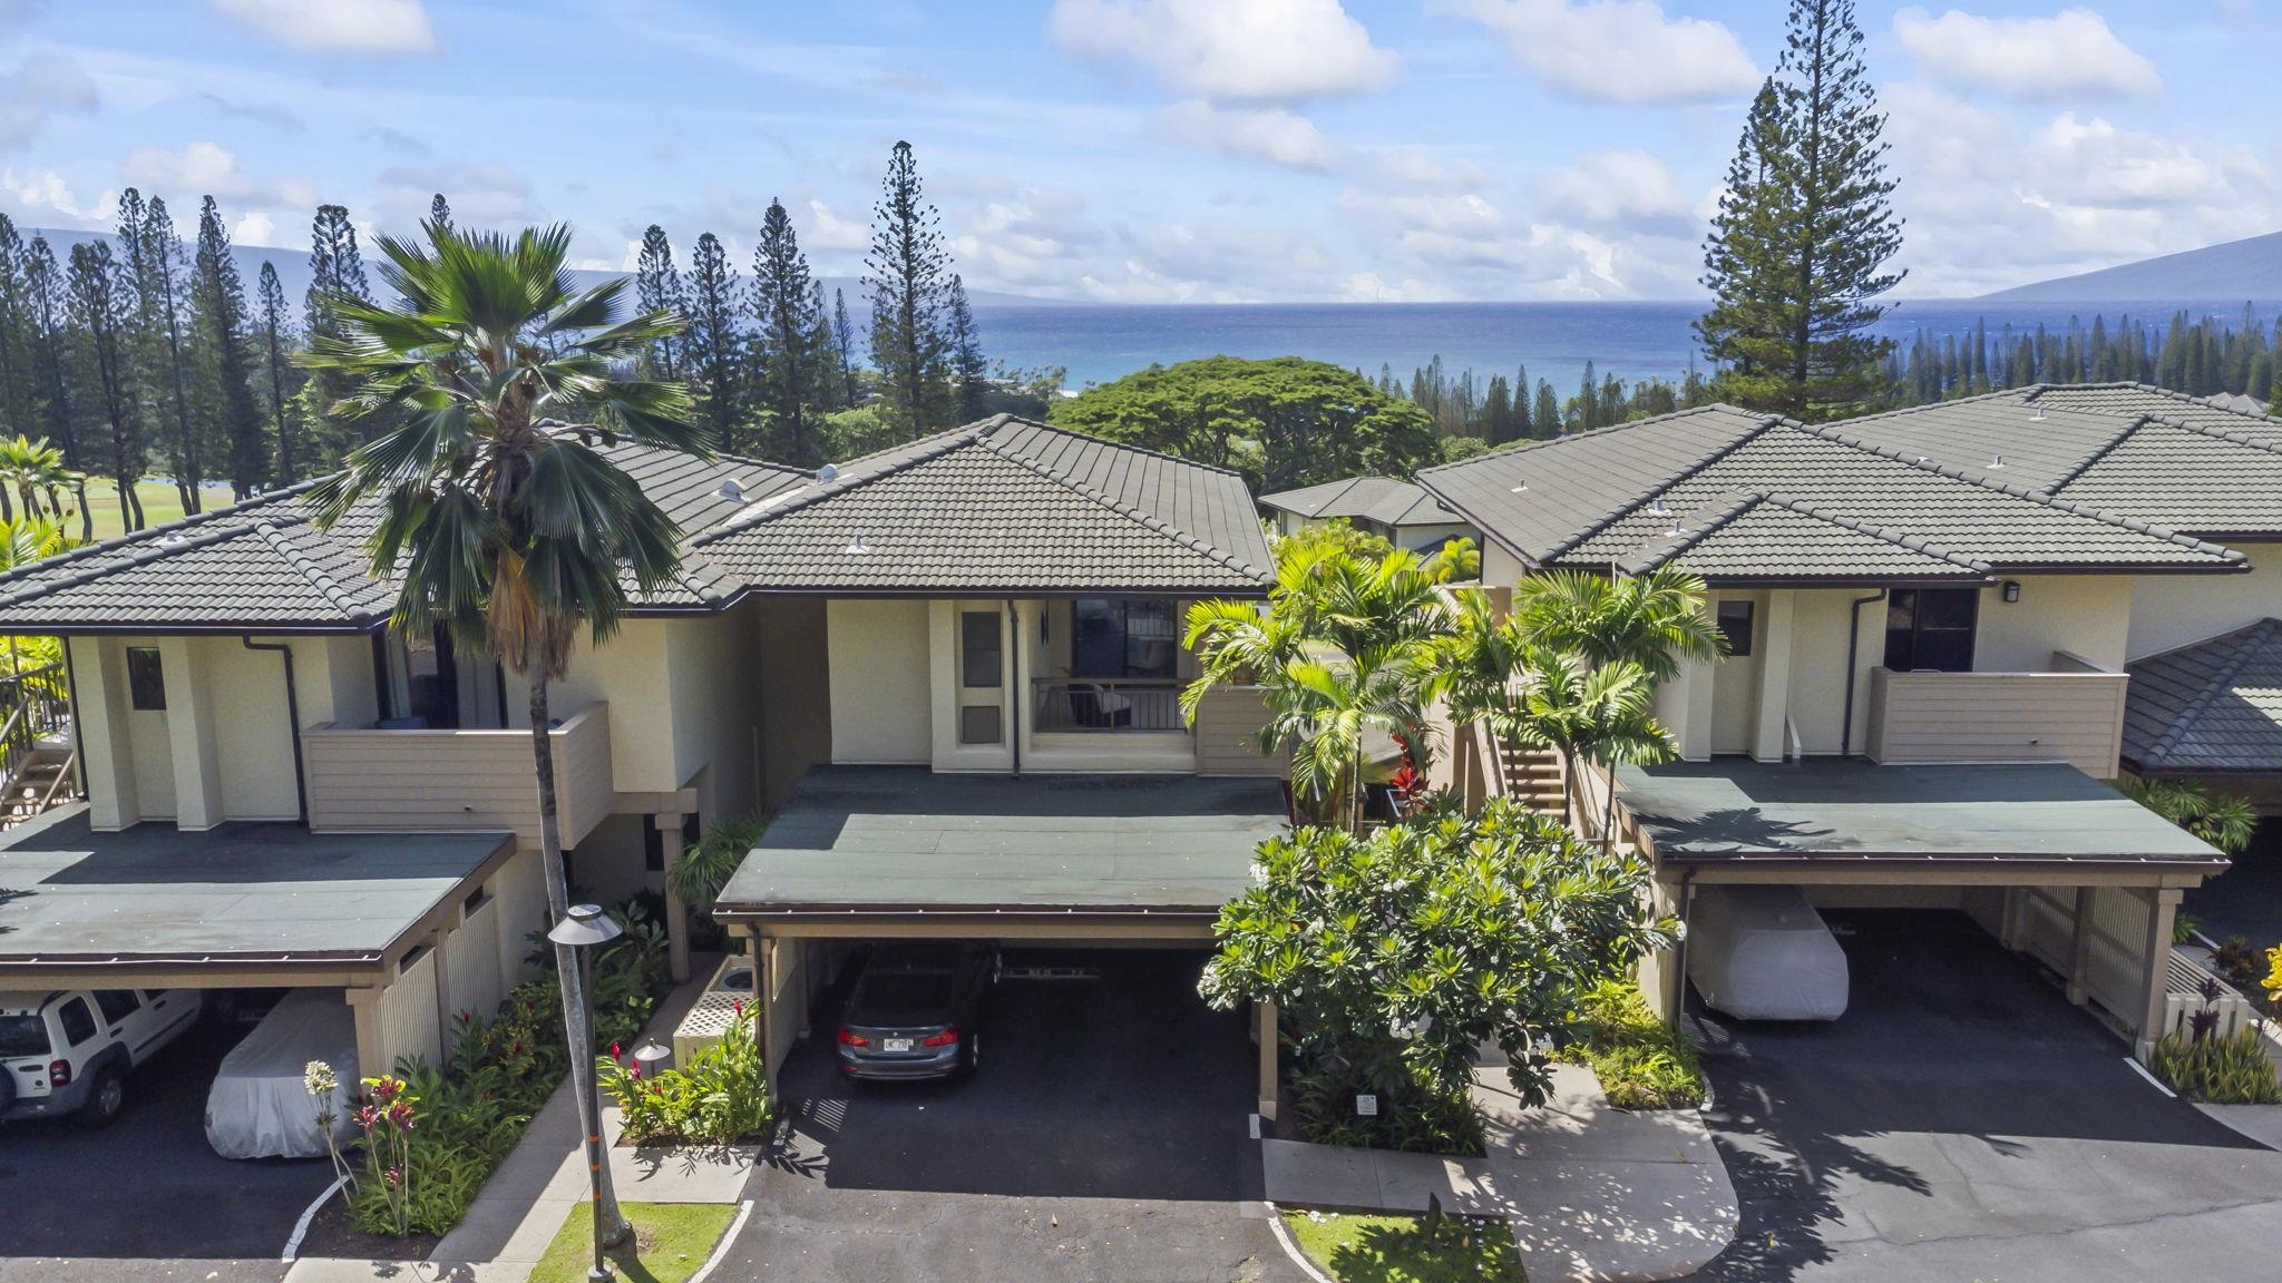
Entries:
[[1269, 778], [812, 767], [714, 913], [1209, 918], [1285, 824]]

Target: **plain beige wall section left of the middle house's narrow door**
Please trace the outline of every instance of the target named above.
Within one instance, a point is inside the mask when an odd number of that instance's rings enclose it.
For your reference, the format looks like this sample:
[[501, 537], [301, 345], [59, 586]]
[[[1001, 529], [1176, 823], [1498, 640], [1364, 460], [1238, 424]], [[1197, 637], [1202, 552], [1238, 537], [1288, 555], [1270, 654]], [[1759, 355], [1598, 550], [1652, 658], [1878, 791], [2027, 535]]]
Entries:
[[929, 603], [831, 600], [833, 760], [926, 765], [933, 758]]

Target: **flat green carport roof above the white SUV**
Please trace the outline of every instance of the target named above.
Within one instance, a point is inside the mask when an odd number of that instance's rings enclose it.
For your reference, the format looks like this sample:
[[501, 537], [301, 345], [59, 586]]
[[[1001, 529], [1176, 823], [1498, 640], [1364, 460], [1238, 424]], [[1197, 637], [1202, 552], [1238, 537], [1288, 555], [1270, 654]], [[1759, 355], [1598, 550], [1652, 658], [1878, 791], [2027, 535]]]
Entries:
[[87, 808], [0, 833], [0, 984], [71, 966], [379, 966], [511, 833], [96, 833]]

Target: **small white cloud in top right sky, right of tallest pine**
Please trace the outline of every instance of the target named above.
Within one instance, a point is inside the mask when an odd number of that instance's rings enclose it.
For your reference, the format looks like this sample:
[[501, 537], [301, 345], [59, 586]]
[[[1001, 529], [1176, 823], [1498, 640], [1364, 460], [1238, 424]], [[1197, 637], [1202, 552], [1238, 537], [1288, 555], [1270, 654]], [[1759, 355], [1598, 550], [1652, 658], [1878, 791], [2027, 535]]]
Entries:
[[1919, 7], [1894, 14], [1894, 34], [1919, 68], [1965, 91], [2049, 98], [2074, 91], [2152, 94], [2163, 87], [2154, 64], [2109, 30], [2090, 9], [2052, 18], [1983, 18]]

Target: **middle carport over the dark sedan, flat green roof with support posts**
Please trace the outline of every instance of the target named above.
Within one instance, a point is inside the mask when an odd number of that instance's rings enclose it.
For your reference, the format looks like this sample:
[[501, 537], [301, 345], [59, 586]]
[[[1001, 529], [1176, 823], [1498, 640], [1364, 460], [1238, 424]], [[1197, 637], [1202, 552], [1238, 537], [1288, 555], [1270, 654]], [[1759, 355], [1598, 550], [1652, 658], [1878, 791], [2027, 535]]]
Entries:
[[[714, 904], [762, 961], [771, 1078], [844, 941], [1203, 947], [1285, 831], [1267, 778], [812, 767]], [[1276, 1112], [1276, 1014], [1257, 1011]]]

